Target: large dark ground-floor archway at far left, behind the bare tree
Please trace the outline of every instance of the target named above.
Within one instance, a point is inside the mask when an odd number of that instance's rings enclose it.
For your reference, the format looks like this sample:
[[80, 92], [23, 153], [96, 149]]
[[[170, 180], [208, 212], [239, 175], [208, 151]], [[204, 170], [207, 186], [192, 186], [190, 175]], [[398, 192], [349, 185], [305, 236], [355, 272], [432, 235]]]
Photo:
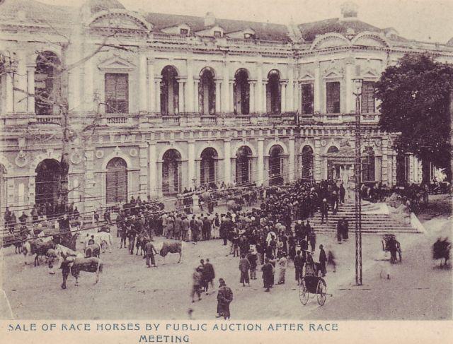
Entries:
[[42, 160], [35, 172], [35, 203], [57, 203], [59, 186], [62, 183], [59, 162], [55, 159]]

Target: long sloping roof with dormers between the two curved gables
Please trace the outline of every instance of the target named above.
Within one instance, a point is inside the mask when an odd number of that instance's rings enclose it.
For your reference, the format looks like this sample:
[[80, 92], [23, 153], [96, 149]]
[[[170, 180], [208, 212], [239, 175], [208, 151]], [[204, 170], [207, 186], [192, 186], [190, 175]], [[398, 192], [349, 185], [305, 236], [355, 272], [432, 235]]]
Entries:
[[[146, 13], [144, 18], [154, 25], [154, 30], [177, 26], [185, 23], [193, 32], [205, 30], [205, 18], [197, 16], [184, 16], [179, 14]], [[286, 25], [272, 23], [258, 23], [246, 20], [230, 20], [216, 18], [216, 25], [222, 27], [226, 33], [252, 29], [259, 40], [279, 40], [289, 42]]]

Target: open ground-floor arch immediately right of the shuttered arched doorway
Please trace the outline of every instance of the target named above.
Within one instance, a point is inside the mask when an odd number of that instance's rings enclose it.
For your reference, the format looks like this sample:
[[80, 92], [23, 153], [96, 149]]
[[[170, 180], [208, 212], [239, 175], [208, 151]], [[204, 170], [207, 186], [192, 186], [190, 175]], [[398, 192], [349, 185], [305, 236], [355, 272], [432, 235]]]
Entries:
[[176, 149], [167, 150], [162, 157], [162, 194], [171, 196], [180, 192], [181, 155]]

